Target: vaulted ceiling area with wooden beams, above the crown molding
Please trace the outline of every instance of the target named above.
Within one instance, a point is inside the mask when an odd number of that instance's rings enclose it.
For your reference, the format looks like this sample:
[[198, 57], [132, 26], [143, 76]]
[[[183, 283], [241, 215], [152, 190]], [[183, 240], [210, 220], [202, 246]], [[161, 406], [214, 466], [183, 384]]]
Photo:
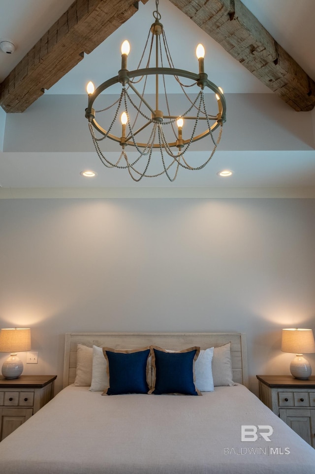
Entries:
[[[175, 67], [196, 71], [202, 42], [208, 77], [227, 102], [214, 158], [175, 183], [135, 184], [104, 168], [84, 118], [86, 83], [117, 74], [126, 38], [136, 68], [156, 3], [136, 7], [0, 0], [0, 40], [16, 44], [13, 54], [0, 52], [0, 198], [315, 197], [314, 0], [159, 0]], [[116, 156], [113, 142], [107, 151]], [[188, 154], [207, 156], [207, 140]], [[217, 175], [224, 168], [233, 171], [228, 179]], [[83, 178], [84, 169], [95, 178]]]

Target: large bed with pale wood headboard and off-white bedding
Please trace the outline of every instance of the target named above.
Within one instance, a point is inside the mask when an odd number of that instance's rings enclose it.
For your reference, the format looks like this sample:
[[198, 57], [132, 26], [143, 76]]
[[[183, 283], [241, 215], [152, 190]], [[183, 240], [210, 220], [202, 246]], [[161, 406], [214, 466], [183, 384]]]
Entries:
[[[108, 396], [107, 388], [103, 391], [97, 386], [104, 382], [99, 378], [103, 372], [96, 371], [100, 348], [108, 348], [108, 359], [103, 358], [114, 374], [113, 360], [130, 362], [130, 354], [141, 353], [142, 364], [142, 353], [150, 346], [146, 377], [151, 372], [155, 390], [164, 383], [159, 372], [164, 369], [164, 359], [167, 372], [173, 364], [189, 365], [194, 351], [193, 383], [196, 389], [197, 383], [206, 383], [208, 373], [198, 378], [203, 367], [201, 354], [208, 357], [214, 347], [214, 390], [202, 390], [201, 396]], [[89, 374], [91, 370], [97, 376]], [[89, 376], [85, 382], [84, 377]], [[69, 333], [65, 336], [63, 385], [51, 402], [1, 441], [0, 473], [315, 473], [315, 450], [248, 390], [243, 334]], [[97, 390], [91, 391], [92, 386]], [[114, 386], [111, 376], [110, 386]]]

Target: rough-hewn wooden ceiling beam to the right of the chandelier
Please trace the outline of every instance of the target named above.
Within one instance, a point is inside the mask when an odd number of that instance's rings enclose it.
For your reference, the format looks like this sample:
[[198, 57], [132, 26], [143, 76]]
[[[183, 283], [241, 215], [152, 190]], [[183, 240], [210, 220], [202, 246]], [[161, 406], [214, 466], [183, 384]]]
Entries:
[[315, 106], [315, 82], [240, 0], [170, 0], [297, 111]]

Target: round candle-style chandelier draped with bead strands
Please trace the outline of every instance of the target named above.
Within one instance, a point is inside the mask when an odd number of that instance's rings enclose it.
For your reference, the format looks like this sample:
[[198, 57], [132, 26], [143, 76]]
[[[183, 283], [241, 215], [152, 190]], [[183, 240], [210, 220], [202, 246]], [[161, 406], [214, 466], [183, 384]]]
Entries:
[[[89, 82], [85, 116], [97, 155], [107, 168], [127, 169], [134, 181], [162, 174], [174, 181], [180, 168], [199, 170], [209, 163], [221, 139], [226, 104], [221, 87], [209, 81], [204, 71], [203, 46], [196, 48], [198, 74], [174, 68], [158, 0], [153, 16], [137, 69], [127, 69], [130, 46], [125, 40], [118, 75], [96, 89]], [[214, 114], [207, 111], [210, 107]], [[196, 163], [192, 155], [188, 162], [187, 150], [205, 137], [211, 145], [207, 149], [212, 148], [210, 156]], [[117, 160], [106, 158], [101, 149], [105, 139], [121, 146]], [[129, 158], [127, 150], [133, 151]]]

